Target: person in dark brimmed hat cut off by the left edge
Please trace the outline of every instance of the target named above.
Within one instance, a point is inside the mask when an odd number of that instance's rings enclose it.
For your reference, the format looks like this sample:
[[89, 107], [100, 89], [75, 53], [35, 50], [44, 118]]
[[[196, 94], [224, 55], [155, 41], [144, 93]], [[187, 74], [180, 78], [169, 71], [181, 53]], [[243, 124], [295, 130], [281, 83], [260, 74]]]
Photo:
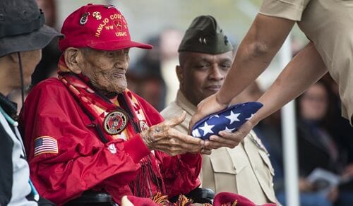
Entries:
[[34, 0], [0, 1], [0, 205], [38, 204], [17, 128], [17, 107], [6, 96], [30, 84], [42, 48], [58, 36], [44, 25]]

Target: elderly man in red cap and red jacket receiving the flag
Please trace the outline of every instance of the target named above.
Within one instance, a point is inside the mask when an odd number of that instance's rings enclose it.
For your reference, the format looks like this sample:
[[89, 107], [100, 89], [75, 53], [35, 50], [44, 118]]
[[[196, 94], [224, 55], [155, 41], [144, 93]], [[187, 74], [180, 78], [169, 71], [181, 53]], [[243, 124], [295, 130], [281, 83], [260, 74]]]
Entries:
[[131, 41], [112, 5], [78, 8], [61, 32], [59, 78], [33, 87], [20, 114], [40, 195], [62, 205], [95, 190], [119, 203], [197, 188], [203, 140], [174, 129], [185, 114], [164, 121], [126, 89], [129, 49], [152, 46]]

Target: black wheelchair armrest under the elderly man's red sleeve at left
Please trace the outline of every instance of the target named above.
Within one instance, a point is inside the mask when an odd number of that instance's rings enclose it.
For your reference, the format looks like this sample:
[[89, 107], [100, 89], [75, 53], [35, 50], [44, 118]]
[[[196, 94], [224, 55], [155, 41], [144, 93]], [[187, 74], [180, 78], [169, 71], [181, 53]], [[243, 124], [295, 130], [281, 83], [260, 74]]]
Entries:
[[70, 200], [65, 206], [71, 205], [111, 205], [112, 196], [108, 193], [93, 190], [85, 191], [79, 198]]

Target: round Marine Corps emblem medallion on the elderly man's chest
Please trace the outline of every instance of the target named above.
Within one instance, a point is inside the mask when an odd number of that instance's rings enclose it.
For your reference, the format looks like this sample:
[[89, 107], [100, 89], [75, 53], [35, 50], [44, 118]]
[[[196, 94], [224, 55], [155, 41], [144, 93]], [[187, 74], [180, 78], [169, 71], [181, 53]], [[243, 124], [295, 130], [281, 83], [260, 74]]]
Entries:
[[104, 130], [109, 135], [117, 135], [126, 127], [128, 119], [124, 111], [112, 111], [104, 118]]

